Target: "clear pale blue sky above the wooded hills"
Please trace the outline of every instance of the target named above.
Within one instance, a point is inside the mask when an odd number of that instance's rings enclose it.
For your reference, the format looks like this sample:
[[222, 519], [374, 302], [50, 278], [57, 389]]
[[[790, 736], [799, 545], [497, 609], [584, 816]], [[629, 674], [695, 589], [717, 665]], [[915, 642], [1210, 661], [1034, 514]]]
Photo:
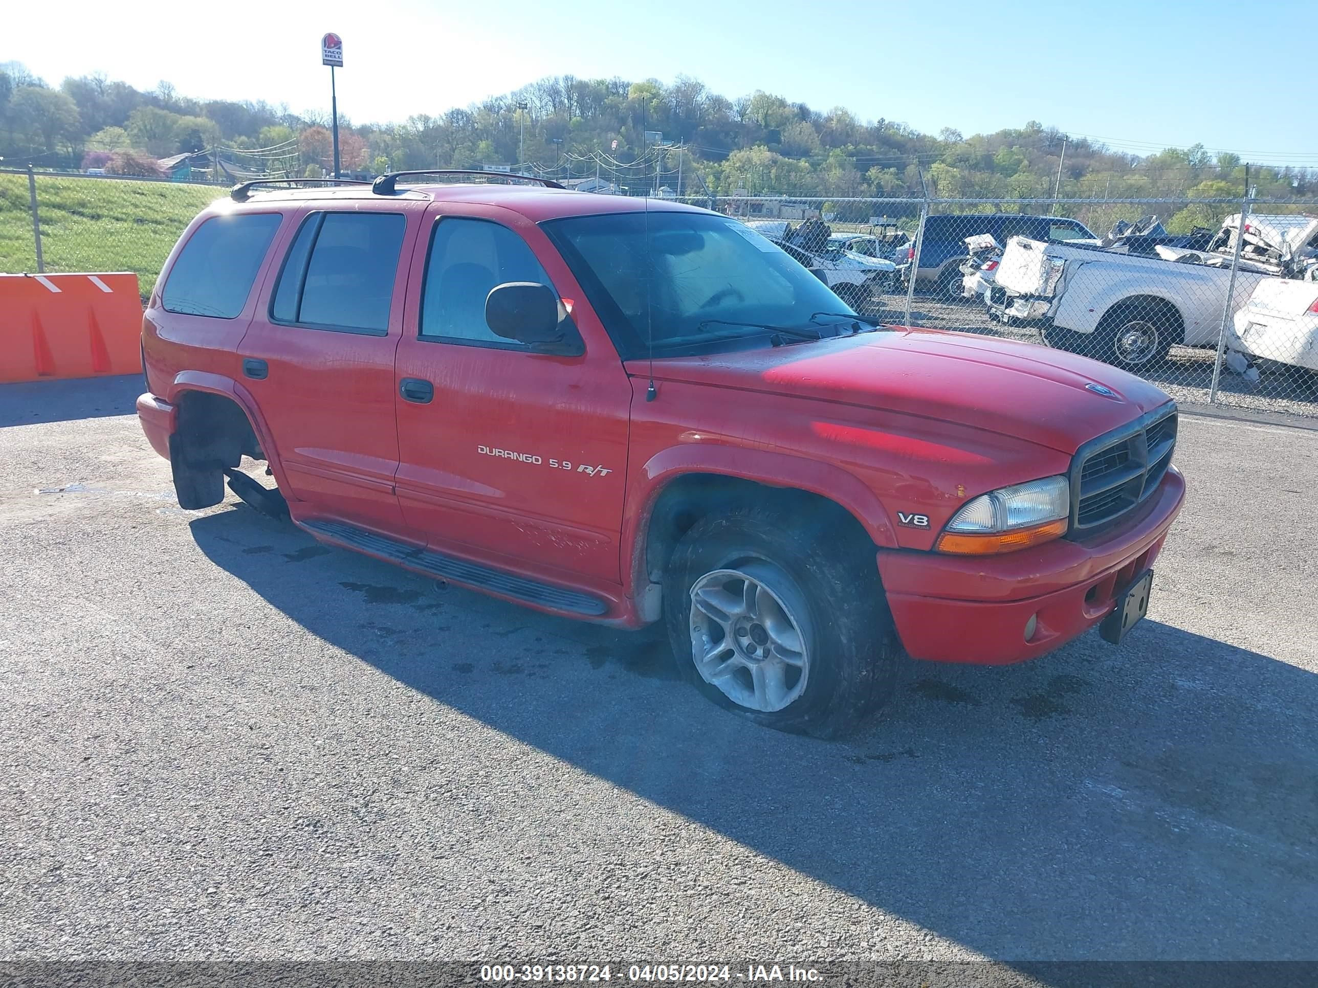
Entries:
[[[181, 94], [328, 108], [319, 38], [344, 38], [340, 111], [438, 113], [542, 75], [693, 75], [966, 134], [1039, 120], [1143, 153], [1201, 142], [1318, 167], [1318, 0], [706, 0], [548, 4], [320, 0], [269, 9], [103, 0], [7, 12], [0, 62], [47, 82], [94, 70]], [[287, 11], [287, 12], [285, 12]], [[692, 16], [695, 12], [696, 16]], [[95, 24], [95, 29], [90, 25]], [[1242, 61], [1239, 82], [1230, 66]]]

